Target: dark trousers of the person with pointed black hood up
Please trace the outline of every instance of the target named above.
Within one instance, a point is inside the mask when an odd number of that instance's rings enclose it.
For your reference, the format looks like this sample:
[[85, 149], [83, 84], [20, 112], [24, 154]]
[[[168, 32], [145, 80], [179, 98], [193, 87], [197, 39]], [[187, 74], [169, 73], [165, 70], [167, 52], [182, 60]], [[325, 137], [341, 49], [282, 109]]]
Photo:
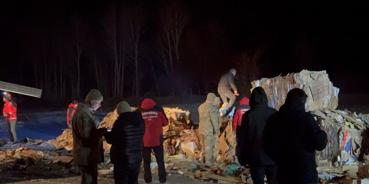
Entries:
[[268, 184], [278, 184], [277, 165], [250, 166], [250, 173], [254, 184], [264, 184], [265, 176], [268, 180]]

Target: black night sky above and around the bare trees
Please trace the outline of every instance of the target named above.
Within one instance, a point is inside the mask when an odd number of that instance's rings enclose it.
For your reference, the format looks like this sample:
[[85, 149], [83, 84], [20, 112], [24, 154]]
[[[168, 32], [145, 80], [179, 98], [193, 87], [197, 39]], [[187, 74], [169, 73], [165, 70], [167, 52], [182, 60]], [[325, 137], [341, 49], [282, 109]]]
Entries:
[[[79, 17], [86, 25], [86, 41], [81, 61], [81, 93], [96, 88], [91, 69], [91, 54], [98, 52], [104, 62], [101, 16], [107, 7], [142, 4], [147, 15], [141, 39], [142, 61], [152, 60], [159, 79], [165, 77], [156, 54], [155, 36], [160, 30], [159, 14], [168, 1], [41, 1], [5, 0], [0, 6], [0, 80], [35, 87], [33, 51], [46, 42], [45, 53], [55, 46], [55, 32], [68, 37], [68, 25]], [[123, 5], [122, 5], [123, 4]], [[360, 3], [268, 2], [268, 1], [184, 1], [190, 12], [180, 40], [180, 61], [176, 76], [191, 81], [205, 93], [215, 91], [217, 81], [230, 68], [238, 69], [236, 60], [242, 53], [265, 52], [259, 58], [258, 77], [299, 72], [303, 69], [327, 70], [331, 81], [343, 93], [367, 93], [368, 13]], [[41, 42], [41, 40], [46, 40]], [[66, 40], [65, 42], [68, 42]], [[63, 43], [62, 43], [63, 44]], [[41, 47], [40, 47], [41, 48]], [[40, 52], [41, 53], [41, 52]], [[65, 55], [65, 54], [64, 54]], [[68, 55], [68, 54], [67, 54]], [[55, 56], [56, 57], [56, 56]], [[40, 59], [52, 62], [53, 55]], [[47, 58], [47, 59], [46, 59]], [[109, 68], [101, 68], [109, 72]], [[151, 64], [140, 65], [141, 92], [155, 89]], [[131, 94], [134, 65], [128, 63], [124, 75], [124, 96]], [[179, 84], [180, 85], [180, 84]], [[67, 86], [68, 87], [68, 86]], [[165, 94], [163, 92], [163, 94]]]

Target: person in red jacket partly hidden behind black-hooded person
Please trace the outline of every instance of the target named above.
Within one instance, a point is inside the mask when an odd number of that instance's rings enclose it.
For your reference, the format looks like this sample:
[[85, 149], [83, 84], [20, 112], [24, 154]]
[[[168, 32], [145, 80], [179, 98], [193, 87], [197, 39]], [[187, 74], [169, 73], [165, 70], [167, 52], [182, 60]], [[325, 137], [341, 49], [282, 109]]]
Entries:
[[[242, 115], [244, 115], [244, 113], [248, 110], [250, 110], [250, 106], [249, 106], [249, 99], [244, 97], [241, 99], [241, 101], [239, 101], [239, 106], [236, 108], [234, 116], [233, 116], [233, 120], [232, 120], [232, 129], [233, 129], [233, 134], [236, 135], [236, 142], [238, 144], [238, 135], [239, 135], [239, 130], [241, 127], [241, 120], [242, 120]], [[238, 146], [236, 148], [236, 155], [238, 153]]]

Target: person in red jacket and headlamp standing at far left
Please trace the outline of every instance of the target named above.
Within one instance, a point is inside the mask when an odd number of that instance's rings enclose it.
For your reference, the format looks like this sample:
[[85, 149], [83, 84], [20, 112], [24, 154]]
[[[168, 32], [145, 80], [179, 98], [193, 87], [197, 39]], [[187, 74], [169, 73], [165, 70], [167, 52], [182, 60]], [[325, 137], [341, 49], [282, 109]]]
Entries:
[[11, 100], [11, 95], [9, 93], [3, 96], [3, 101], [5, 102], [3, 116], [6, 122], [8, 122], [10, 141], [16, 142], [17, 133], [15, 133], [15, 123], [17, 123], [17, 103]]

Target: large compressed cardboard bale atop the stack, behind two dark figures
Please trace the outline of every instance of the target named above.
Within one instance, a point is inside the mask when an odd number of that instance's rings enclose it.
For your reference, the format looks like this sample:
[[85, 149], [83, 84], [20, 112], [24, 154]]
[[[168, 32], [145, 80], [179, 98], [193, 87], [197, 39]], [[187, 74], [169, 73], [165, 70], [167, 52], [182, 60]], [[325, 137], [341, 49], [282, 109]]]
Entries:
[[[252, 89], [261, 86], [268, 95], [269, 107], [279, 109], [286, 100], [287, 93], [293, 88], [303, 89], [307, 96], [307, 110], [335, 109], [338, 106], [339, 89], [335, 88], [326, 71], [307, 71], [288, 74], [284, 77], [263, 78], [251, 82]], [[252, 91], [251, 89], [251, 91]]]

